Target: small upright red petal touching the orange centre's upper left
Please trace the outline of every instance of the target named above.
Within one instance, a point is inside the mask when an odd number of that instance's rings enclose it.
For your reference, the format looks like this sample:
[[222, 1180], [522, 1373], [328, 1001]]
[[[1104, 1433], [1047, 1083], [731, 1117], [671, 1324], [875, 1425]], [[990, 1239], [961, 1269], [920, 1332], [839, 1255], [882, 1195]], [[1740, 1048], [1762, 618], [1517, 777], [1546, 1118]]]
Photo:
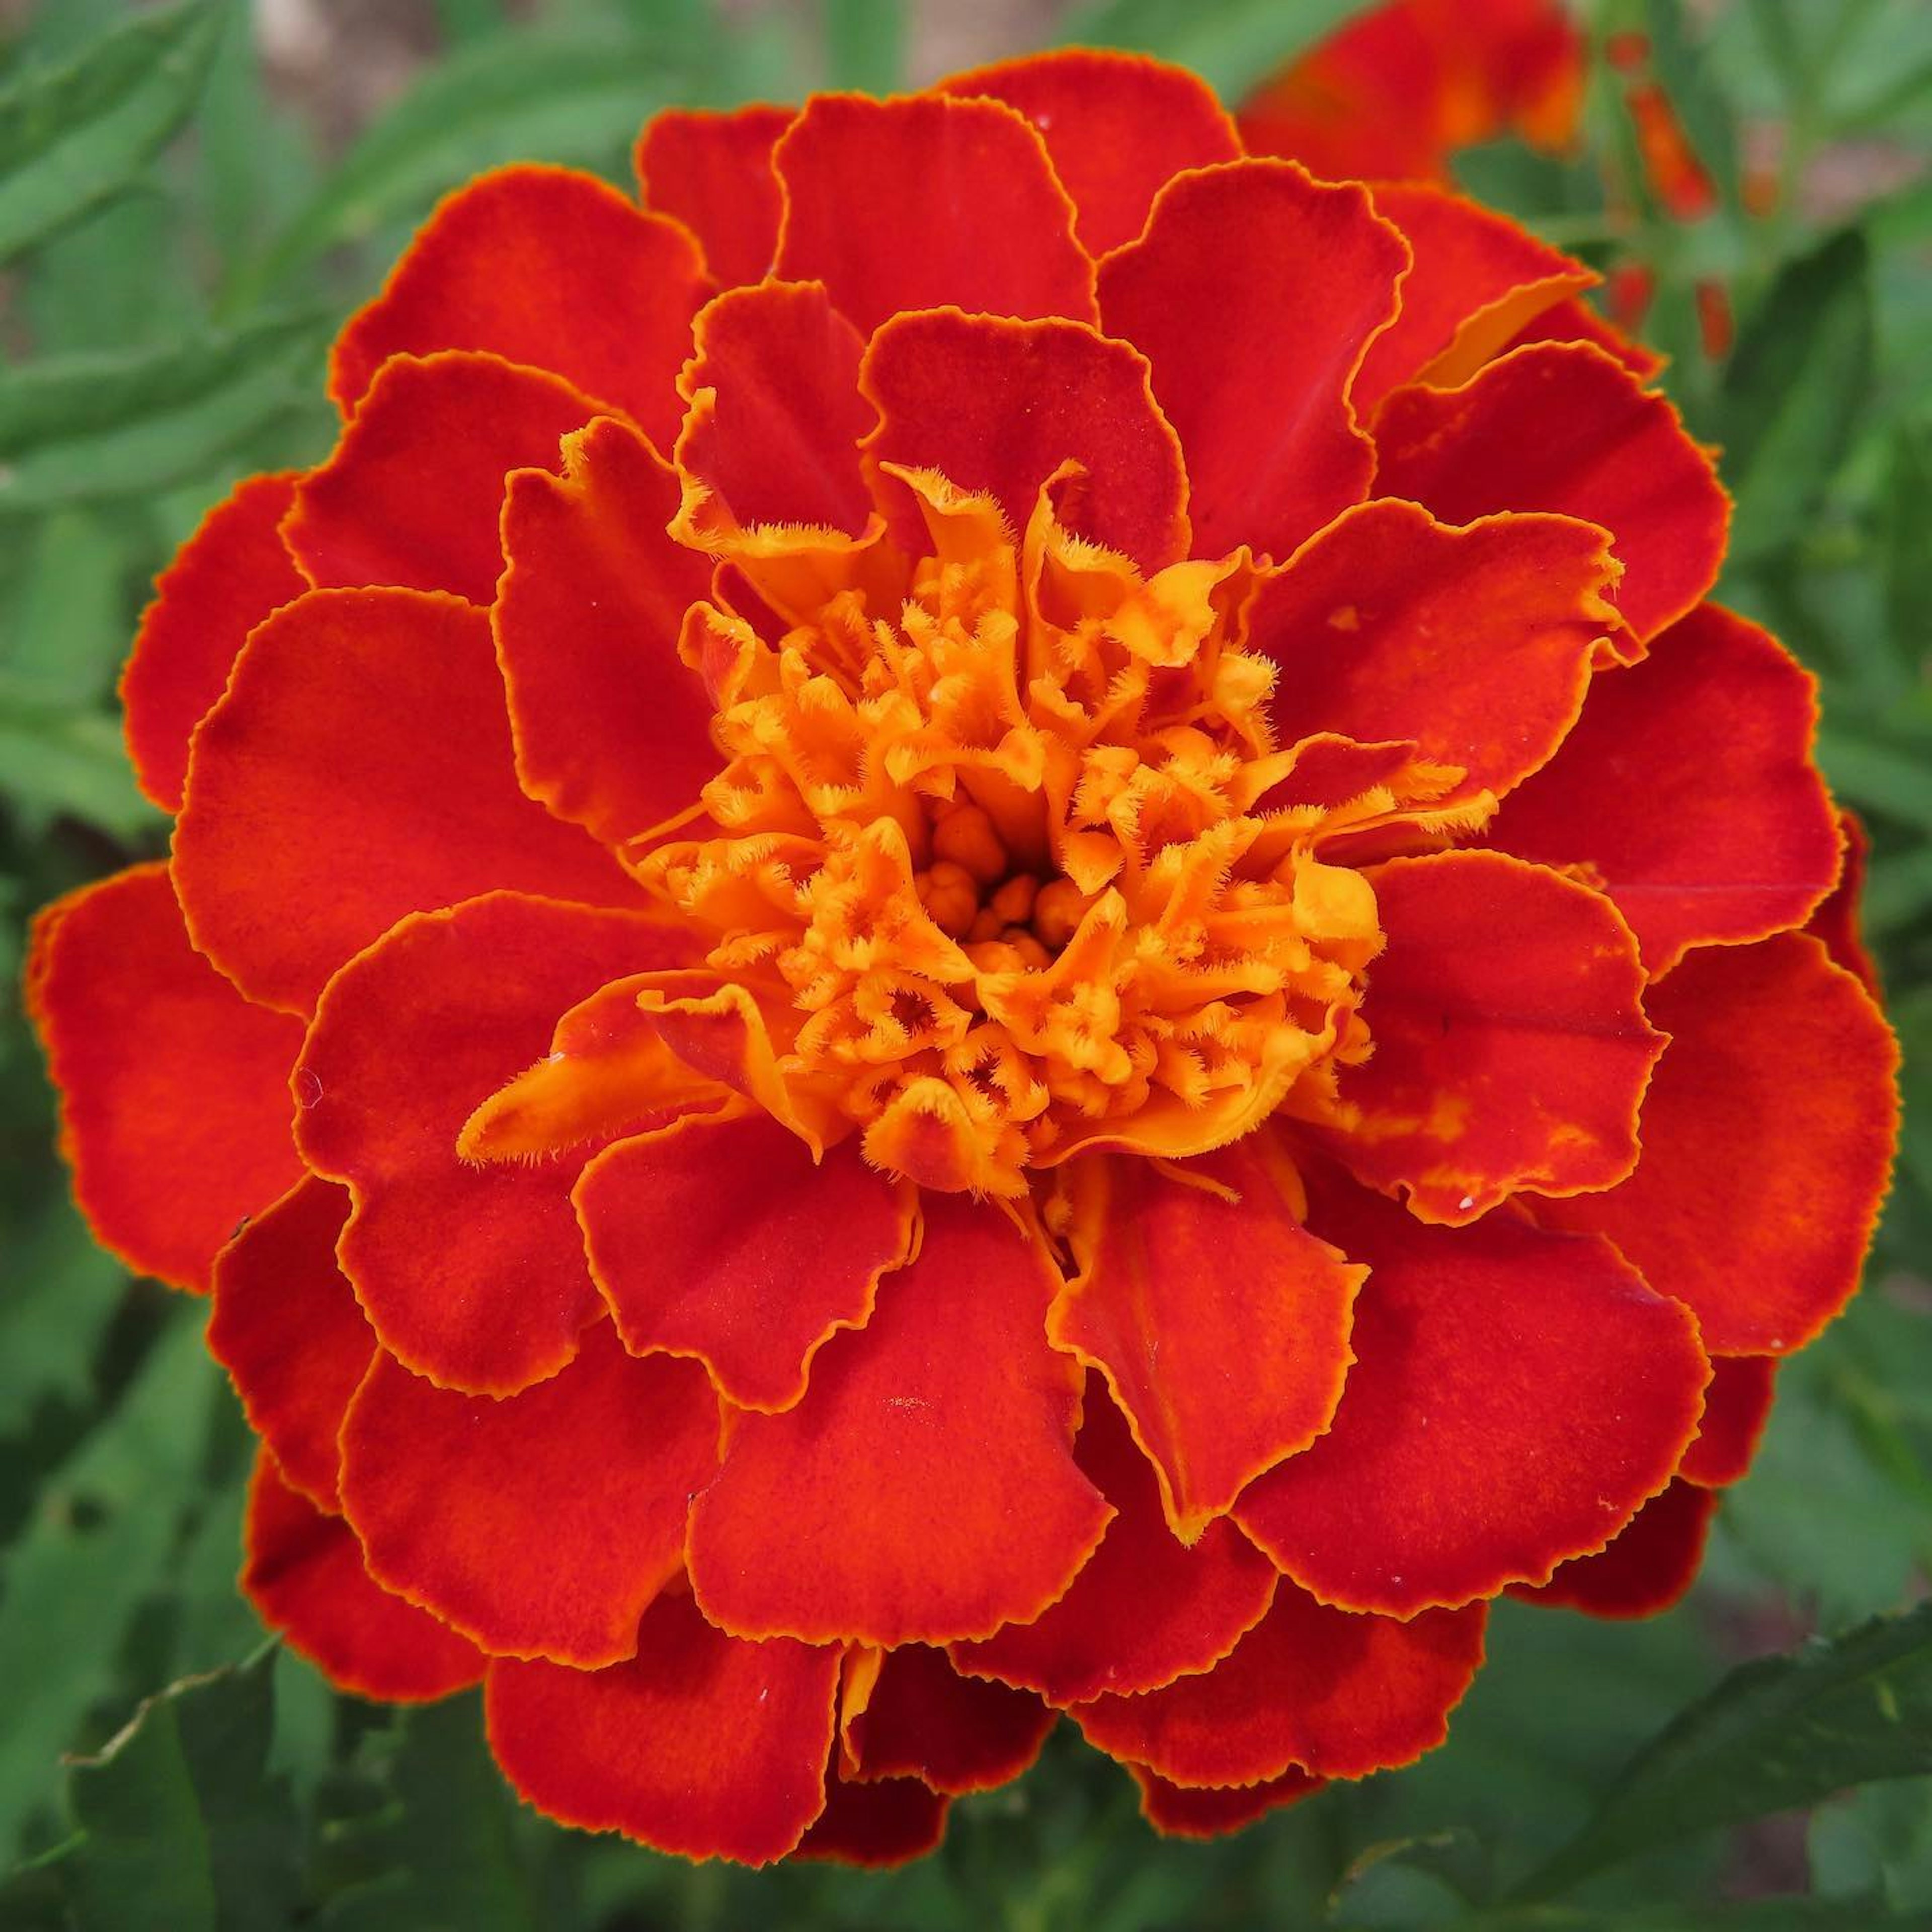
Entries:
[[678, 437], [678, 469], [740, 527], [815, 524], [858, 535], [871, 516], [858, 462], [873, 425], [858, 392], [864, 346], [823, 282], [719, 296], [697, 317], [697, 354], [684, 371], [684, 392], [699, 402]]

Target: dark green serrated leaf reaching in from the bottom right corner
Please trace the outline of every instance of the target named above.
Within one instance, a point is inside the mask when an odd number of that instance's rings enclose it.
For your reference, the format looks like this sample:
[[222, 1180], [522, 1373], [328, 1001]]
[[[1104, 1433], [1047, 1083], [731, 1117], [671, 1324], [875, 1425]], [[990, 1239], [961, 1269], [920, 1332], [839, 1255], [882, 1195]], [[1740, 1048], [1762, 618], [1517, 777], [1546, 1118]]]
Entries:
[[1520, 1888], [1548, 1899], [1636, 1853], [1932, 1772], [1932, 1604], [1733, 1671], [1611, 1785]]

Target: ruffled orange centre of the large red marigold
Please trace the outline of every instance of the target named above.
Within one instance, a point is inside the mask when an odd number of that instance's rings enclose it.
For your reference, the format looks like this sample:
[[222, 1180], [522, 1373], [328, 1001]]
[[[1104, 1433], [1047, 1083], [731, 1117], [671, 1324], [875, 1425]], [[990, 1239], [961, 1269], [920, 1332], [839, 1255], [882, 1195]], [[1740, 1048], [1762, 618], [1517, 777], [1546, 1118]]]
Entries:
[[1298, 800], [1246, 553], [1144, 578], [1051, 493], [1016, 543], [989, 498], [900, 479], [931, 554], [838, 539], [813, 574], [790, 533], [777, 641], [690, 614], [728, 763], [709, 837], [636, 862], [715, 935], [796, 1113], [922, 1186], [1018, 1196], [1082, 1148], [1200, 1153], [1331, 1094], [1381, 935], [1314, 842], [1393, 800]]

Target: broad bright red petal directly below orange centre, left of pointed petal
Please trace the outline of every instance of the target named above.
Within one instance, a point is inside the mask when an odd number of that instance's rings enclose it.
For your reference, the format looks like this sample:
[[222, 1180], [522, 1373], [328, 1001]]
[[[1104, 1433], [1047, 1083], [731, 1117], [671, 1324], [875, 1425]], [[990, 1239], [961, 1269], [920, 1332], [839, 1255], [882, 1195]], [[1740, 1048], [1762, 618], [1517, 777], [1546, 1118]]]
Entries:
[[1113, 1515], [1068, 1449], [1076, 1372], [1041, 1337], [1055, 1281], [997, 1209], [927, 1196], [920, 1258], [866, 1331], [819, 1354], [796, 1408], [738, 1418], [692, 1513], [705, 1615], [891, 1646], [1053, 1604]]

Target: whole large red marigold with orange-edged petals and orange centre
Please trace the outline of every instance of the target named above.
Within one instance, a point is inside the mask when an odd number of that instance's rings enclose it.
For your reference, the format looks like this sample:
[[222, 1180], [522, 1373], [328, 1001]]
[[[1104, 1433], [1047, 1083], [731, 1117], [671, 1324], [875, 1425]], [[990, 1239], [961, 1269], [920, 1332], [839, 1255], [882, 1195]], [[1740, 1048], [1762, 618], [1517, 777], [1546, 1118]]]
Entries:
[[1406, 1764], [1499, 1592], [1689, 1584], [1884, 1188], [1712, 462], [1588, 270], [1138, 58], [638, 158], [350, 321], [135, 643], [170, 860], [39, 923], [245, 1586], [690, 1857], [1061, 1714], [1184, 1833]]

